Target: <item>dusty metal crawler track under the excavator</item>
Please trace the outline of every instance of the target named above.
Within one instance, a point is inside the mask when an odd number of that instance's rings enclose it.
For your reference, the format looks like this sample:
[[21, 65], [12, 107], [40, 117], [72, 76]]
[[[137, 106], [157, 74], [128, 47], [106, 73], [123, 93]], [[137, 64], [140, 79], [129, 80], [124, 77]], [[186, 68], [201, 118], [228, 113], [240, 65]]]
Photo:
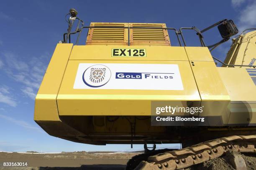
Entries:
[[179, 170], [218, 158], [229, 150], [256, 153], [256, 135], [233, 135], [159, 153], [141, 161], [135, 170]]

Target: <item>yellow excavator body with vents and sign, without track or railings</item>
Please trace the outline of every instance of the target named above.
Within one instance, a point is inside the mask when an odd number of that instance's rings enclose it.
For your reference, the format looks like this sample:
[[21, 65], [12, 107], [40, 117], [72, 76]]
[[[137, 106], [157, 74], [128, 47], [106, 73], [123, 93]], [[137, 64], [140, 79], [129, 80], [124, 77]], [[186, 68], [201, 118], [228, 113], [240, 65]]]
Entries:
[[[171, 46], [168, 32], [154, 29], [165, 24], [91, 23], [128, 25], [152, 29], [130, 30], [130, 45], [125, 28], [91, 28], [86, 45], [57, 44], [35, 103], [34, 119], [47, 133], [96, 145], [177, 143], [193, 134], [186, 128], [209, 135], [209, 128], [256, 125], [255, 68], [217, 67], [207, 47]], [[237, 54], [229, 64], [256, 65], [253, 35], [239, 46], [246, 54], [229, 52]], [[152, 126], [156, 107], [166, 105], [203, 107], [193, 116], [205, 121]]]

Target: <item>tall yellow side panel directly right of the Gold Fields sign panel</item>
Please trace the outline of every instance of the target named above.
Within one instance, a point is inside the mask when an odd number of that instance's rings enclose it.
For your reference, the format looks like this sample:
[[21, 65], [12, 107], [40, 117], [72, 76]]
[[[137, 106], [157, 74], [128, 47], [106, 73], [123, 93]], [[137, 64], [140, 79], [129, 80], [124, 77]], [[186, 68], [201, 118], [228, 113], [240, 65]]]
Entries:
[[[189, 56], [188, 56], [189, 57]], [[221, 117], [222, 124], [228, 123], [230, 97], [214, 62], [190, 62], [204, 107], [200, 116]], [[215, 121], [209, 118], [211, 124]]]

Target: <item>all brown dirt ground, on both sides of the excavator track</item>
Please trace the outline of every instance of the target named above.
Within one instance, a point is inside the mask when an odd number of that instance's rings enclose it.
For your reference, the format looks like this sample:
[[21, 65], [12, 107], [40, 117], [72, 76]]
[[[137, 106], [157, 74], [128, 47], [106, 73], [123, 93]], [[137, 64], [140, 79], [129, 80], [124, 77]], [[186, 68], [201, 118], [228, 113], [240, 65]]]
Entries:
[[[0, 153], [0, 170], [124, 170], [127, 161], [139, 153], [95, 154], [87, 152], [60, 154]], [[235, 170], [230, 154], [194, 165], [184, 170]], [[247, 170], [256, 170], [256, 154], [240, 154]], [[4, 162], [28, 163], [26, 167], [3, 167]]]

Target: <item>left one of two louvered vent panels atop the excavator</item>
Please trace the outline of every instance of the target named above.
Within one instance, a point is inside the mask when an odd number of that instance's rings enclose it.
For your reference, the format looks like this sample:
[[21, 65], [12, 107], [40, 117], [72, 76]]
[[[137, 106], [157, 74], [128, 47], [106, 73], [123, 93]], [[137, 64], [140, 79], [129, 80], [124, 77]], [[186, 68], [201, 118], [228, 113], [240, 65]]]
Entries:
[[[127, 27], [128, 23], [91, 23], [90, 26]], [[128, 30], [124, 28], [90, 28], [86, 44], [128, 44]]]

